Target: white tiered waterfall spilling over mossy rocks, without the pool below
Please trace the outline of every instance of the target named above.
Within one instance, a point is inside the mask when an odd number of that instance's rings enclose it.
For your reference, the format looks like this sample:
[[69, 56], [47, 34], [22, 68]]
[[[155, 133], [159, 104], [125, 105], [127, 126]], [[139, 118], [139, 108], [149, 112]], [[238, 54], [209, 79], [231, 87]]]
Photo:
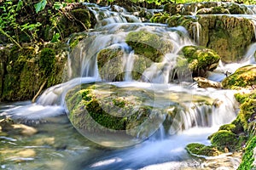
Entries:
[[[65, 96], [68, 90], [83, 83], [106, 81], [99, 71], [100, 68], [97, 59], [102, 50], [114, 48], [120, 50], [119, 54], [121, 56], [119, 57], [122, 62], [122, 68], [120, 70], [123, 71], [125, 76], [124, 82], [113, 82], [113, 85], [118, 87], [139, 87], [147, 93], [161, 93], [160, 98], [169, 94], [171, 97], [165, 96], [166, 99], [159, 99], [159, 101], [156, 102], [157, 105], [162, 107], [161, 109], [166, 109], [166, 104], [169, 103], [178, 104], [176, 108], [178, 113], [172, 117], [172, 124], [168, 125], [168, 133], [177, 133], [182, 130], [188, 130], [191, 127], [212, 127], [230, 122], [235, 118], [236, 108], [234, 106], [236, 103], [233, 97], [232, 99], [230, 98], [230, 96], [233, 96], [232, 92], [224, 90], [222, 93], [220, 90], [211, 91], [211, 89], [202, 90], [201, 88], [195, 88], [191, 85], [193, 79], [188, 68], [183, 71], [175, 69], [180, 49], [187, 45], [195, 45], [194, 42], [197, 44], [200, 43], [201, 25], [198, 22], [195, 22], [195, 26], [193, 27], [195, 41], [192, 41], [189, 38], [188, 32], [182, 26], [167, 27], [161, 24], [141, 23], [137, 17], [128, 13], [125, 8], [119, 8], [118, 6], [99, 7], [90, 3], [84, 4], [95, 14], [97, 25], [95, 29], [86, 32], [87, 36], [73, 48], [70, 54], [68, 54], [68, 81], [65, 82], [63, 80], [63, 83], [46, 89], [38, 98], [36, 104], [32, 104], [31, 107], [26, 106], [26, 110], [24, 111], [22, 111], [22, 109], [16, 110], [20, 112], [16, 114], [16, 116], [21, 116], [22, 113], [23, 116], [26, 117], [26, 112], [29, 111], [33, 111], [32, 114], [35, 115], [37, 114], [37, 110], [40, 110], [40, 114], [42, 114], [44, 108], [48, 108], [47, 111], [50, 108], [55, 108], [58, 110], [58, 113], [63, 113]], [[195, 14], [196, 11], [197, 7], [195, 8]], [[255, 19], [253, 17], [251, 17], [251, 19], [253, 20], [253, 26], [255, 26]], [[168, 51], [163, 51], [159, 47], [154, 47], [154, 44], [147, 44], [151, 45], [153, 48], [157, 48], [157, 50], [162, 53], [162, 59], [153, 61], [146, 57], [143, 58], [143, 56], [137, 55], [125, 41], [129, 33], [136, 31], [147, 31], [155, 34], [160, 37], [161, 41], [170, 42], [172, 48], [168, 49]], [[249, 48], [246, 54], [247, 57], [245, 58], [253, 58], [254, 53], [255, 43]], [[134, 67], [139, 57], [150, 61], [148, 62], [150, 65], [142, 72], [137, 71], [137, 68]], [[252, 59], [248, 62], [252, 62]], [[109, 62], [106, 65], [111, 66], [112, 64], [113, 62]], [[236, 65], [241, 66], [241, 63]], [[224, 76], [224, 72], [229, 71], [229, 68], [234, 69], [235, 67], [234, 65], [224, 65], [220, 62], [216, 71]], [[132, 71], [139, 72], [142, 78], [137, 81], [133, 80]], [[231, 72], [233, 71], [234, 70]], [[176, 75], [177, 77], [175, 77]], [[211, 75], [209, 78], [215, 79], [211, 77]], [[190, 88], [188, 88], [188, 84]], [[194, 94], [207, 96], [208, 98], [214, 99], [215, 103], [206, 104], [198, 100], [194, 101], [192, 97]], [[183, 100], [184, 96], [191, 97], [189, 97], [188, 100]], [[53, 111], [55, 110], [53, 109]], [[15, 111], [10, 112], [15, 114]], [[168, 112], [172, 112], [172, 108], [166, 109], [164, 114], [168, 114]], [[44, 116], [44, 114], [42, 114], [42, 116]], [[37, 118], [38, 116], [34, 117]], [[163, 138], [163, 133], [165, 133], [164, 127], [160, 126], [161, 139]]]

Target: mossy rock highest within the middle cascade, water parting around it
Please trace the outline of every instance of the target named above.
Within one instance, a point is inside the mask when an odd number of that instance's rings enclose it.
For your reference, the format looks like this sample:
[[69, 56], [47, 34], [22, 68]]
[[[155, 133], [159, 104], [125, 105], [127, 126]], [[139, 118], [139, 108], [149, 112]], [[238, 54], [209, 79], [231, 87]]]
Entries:
[[172, 42], [158, 34], [149, 31], [132, 31], [125, 38], [125, 42], [134, 50], [154, 62], [159, 62], [163, 55], [172, 52]]

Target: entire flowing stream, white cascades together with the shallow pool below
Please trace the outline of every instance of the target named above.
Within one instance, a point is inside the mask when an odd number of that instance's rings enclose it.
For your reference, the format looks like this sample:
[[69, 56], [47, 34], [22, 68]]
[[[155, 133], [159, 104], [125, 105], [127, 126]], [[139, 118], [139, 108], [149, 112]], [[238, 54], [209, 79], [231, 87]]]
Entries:
[[[118, 6], [98, 7], [86, 3], [95, 14], [96, 28], [87, 32], [88, 36], [79, 42], [69, 55], [69, 80], [48, 88], [35, 104], [30, 101], [0, 104], [1, 116], [10, 116], [38, 129], [32, 136], [0, 136], [7, 145], [6, 155], [0, 156], [2, 169], [234, 169], [240, 163], [239, 156], [226, 154], [207, 157], [206, 160], [191, 157], [184, 150], [186, 144], [197, 142], [210, 144], [207, 137], [216, 132], [220, 125], [236, 118], [237, 103], [234, 91], [197, 88], [189, 70], [173, 71], [177, 52], [186, 45], [199, 41], [200, 26], [195, 25], [195, 41], [187, 31], [179, 27], [143, 23], [142, 19]], [[250, 9], [250, 10], [249, 10]], [[255, 13], [255, 7], [248, 10]], [[255, 20], [254, 20], [255, 22]], [[172, 42], [173, 48], [164, 54], [159, 63], [143, 72], [142, 80], [135, 81], [131, 71], [136, 68], [135, 55], [125, 42], [131, 31], [149, 31], [158, 34], [163, 41]], [[221, 81], [224, 72], [236, 71], [242, 65], [255, 63], [255, 43], [247, 50], [241, 63], [224, 65], [219, 63], [215, 71], [209, 72], [209, 79]], [[123, 71], [122, 82], [107, 81], [101, 77], [97, 66], [97, 54], [103, 48], [121, 49]], [[161, 50], [161, 49], [160, 49]], [[111, 65], [116, 61], [112, 61]], [[107, 68], [108, 68], [107, 64]], [[105, 65], [104, 65], [105, 66]], [[177, 103], [183, 109], [173, 118], [172, 124], [162, 125], [142, 143], [115, 148], [95, 144], [84, 138], [69, 122], [65, 110], [67, 91], [84, 83], [106, 82], [118, 88], [137, 88], [154, 93], [154, 105], [165, 106]], [[172, 96], [172, 97], [170, 97]], [[202, 104], [201, 99], [212, 101], [212, 105]], [[213, 105], [214, 104], [214, 105]], [[172, 107], [167, 111], [172, 112]], [[103, 144], [104, 145], [104, 144]], [[11, 150], [34, 150], [31, 156], [13, 156]], [[221, 163], [214, 163], [219, 161]]]

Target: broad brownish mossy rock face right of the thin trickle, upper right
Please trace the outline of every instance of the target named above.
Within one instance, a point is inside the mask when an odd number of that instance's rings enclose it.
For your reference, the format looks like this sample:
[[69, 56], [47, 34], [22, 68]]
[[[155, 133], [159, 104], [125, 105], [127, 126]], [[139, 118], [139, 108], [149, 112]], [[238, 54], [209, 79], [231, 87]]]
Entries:
[[250, 20], [226, 15], [200, 16], [200, 44], [214, 49], [222, 61], [230, 63], [242, 58], [253, 42], [254, 28]]

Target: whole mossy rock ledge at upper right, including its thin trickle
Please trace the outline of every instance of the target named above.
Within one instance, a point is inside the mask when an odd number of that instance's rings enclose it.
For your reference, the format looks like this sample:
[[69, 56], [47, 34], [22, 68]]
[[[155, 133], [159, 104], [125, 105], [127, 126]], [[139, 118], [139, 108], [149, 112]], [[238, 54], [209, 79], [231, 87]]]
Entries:
[[184, 26], [195, 42], [216, 51], [226, 63], [241, 59], [255, 38], [252, 22], [238, 16], [173, 15], [166, 22], [169, 26]]

